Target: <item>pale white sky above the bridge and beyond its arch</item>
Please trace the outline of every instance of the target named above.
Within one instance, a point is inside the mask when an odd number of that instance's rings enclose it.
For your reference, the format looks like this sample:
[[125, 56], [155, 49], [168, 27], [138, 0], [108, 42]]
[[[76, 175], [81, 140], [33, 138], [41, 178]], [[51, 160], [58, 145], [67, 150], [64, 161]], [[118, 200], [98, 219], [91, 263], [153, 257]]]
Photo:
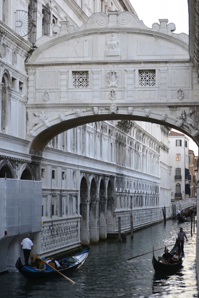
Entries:
[[[139, 19], [147, 27], [152, 28], [153, 23], [159, 24], [159, 19], [166, 18], [168, 23], [175, 24], [176, 30], [174, 33], [184, 32], [189, 34], [187, 0], [130, 0], [130, 2]], [[192, 139], [189, 141], [189, 149], [194, 150], [195, 155], [198, 156], [198, 146]]]

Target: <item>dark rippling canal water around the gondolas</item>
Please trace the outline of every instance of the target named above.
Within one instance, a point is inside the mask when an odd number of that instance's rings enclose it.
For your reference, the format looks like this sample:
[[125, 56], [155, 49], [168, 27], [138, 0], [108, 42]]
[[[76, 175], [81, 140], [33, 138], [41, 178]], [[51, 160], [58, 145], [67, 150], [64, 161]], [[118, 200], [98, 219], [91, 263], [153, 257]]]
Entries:
[[[152, 253], [127, 261], [165, 245], [172, 249], [180, 226], [186, 232], [183, 268], [175, 274], [155, 273]], [[91, 252], [83, 266], [69, 277], [56, 280], [28, 281], [19, 272], [0, 275], [2, 298], [115, 298], [149, 297], [178, 298], [198, 297], [195, 270], [196, 230], [191, 235], [191, 224], [178, 224], [168, 220], [134, 233], [126, 241], [110, 239], [92, 244]], [[169, 246], [170, 245], [170, 246]], [[164, 249], [155, 252], [156, 258]]]

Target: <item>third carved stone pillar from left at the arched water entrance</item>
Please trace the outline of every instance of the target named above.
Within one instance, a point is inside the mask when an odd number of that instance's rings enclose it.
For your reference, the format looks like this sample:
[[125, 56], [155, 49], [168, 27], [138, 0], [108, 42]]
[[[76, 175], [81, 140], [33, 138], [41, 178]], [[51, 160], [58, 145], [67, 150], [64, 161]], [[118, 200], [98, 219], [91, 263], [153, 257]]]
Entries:
[[107, 239], [107, 198], [100, 198], [100, 203], [99, 203], [99, 238]]

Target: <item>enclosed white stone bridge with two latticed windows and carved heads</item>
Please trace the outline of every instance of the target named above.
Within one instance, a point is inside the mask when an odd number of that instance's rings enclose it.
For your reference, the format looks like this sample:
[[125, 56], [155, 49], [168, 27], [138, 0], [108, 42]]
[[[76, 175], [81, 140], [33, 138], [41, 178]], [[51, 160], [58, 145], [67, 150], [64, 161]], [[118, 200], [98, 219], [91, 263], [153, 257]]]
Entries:
[[67, 129], [101, 120], [154, 122], [199, 144], [198, 74], [188, 35], [159, 20], [96, 13], [76, 30], [68, 22], [43, 36], [26, 62], [27, 139], [32, 155]]

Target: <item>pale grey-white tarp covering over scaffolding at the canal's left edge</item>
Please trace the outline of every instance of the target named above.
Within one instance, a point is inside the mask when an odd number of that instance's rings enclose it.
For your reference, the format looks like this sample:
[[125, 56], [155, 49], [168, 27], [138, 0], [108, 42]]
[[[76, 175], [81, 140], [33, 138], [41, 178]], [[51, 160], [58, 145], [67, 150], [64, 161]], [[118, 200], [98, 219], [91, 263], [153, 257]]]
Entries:
[[0, 196], [0, 272], [16, 271], [22, 239], [41, 231], [41, 181], [0, 178]]

